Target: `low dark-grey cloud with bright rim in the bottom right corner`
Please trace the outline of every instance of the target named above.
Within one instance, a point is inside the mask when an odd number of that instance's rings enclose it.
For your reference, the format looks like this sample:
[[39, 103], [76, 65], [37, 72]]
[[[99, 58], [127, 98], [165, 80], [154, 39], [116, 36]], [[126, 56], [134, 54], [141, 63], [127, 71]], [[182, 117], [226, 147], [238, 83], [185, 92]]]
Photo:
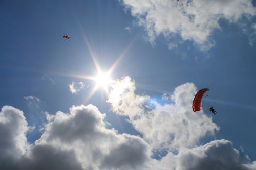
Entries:
[[[172, 160], [172, 161], [170, 161]], [[228, 140], [211, 141], [200, 147], [182, 149], [177, 155], [169, 153], [160, 162], [162, 169], [249, 170], [256, 169], [256, 161], [240, 155]]]

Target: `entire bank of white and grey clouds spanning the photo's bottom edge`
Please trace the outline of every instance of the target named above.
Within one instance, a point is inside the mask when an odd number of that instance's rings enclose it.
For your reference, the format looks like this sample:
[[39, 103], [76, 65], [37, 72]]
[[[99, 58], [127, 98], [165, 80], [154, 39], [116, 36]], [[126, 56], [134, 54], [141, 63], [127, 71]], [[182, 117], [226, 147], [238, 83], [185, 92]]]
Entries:
[[[46, 114], [42, 136], [28, 143], [24, 113], [12, 106], [0, 112], [2, 169], [256, 169], [256, 161], [241, 155], [228, 140], [198, 145], [220, 128], [188, 103], [197, 91], [193, 83], [164, 94], [165, 104], [134, 93], [135, 82], [124, 77], [113, 85], [109, 102], [143, 137], [118, 134], [96, 106], [72, 106], [69, 113]], [[165, 151], [154, 159], [155, 151]]]

